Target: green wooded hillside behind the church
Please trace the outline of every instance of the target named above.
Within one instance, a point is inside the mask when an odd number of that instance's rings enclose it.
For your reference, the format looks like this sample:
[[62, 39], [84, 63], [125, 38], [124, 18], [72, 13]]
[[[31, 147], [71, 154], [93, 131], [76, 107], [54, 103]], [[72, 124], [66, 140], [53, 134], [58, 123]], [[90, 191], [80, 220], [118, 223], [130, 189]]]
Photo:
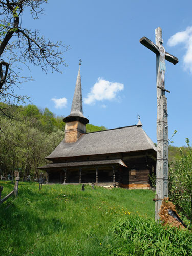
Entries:
[[[37, 167], [49, 161], [45, 159], [63, 140], [64, 116], [55, 116], [48, 108], [35, 105], [10, 106], [0, 103], [0, 175], [8, 176], [19, 170], [25, 180], [28, 175], [37, 176]], [[87, 132], [106, 130], [104, 126], [87, 124]], [[182, 147], [187, 154], [187, 147]], [[169, 162], [181, 158], [180, 148], [169, 146]]]

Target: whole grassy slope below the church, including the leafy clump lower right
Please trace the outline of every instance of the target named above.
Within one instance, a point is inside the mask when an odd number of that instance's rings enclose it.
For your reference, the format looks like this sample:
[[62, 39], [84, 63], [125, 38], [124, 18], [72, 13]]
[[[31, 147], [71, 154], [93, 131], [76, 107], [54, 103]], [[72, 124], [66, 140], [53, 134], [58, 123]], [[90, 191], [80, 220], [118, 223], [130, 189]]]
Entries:
[[191, 232], [154, 222], [150, 190], [38, 186], [20, 182], [0, 205], [1, 256], [192, 255]]

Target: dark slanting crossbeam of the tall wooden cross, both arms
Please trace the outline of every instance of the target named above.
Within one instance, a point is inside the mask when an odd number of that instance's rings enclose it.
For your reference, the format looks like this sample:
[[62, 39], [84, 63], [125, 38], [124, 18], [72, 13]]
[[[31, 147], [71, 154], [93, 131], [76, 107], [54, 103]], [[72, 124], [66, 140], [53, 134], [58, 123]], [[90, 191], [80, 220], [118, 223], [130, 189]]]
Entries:
[[[152, 52], [154, 52], [155, 54], [159, 54], [159, 47], [154, 44], [154, 42], [152, 42], [150, 39], [148, 39], [147, 37], [142, 37], [139, 42], [146, 46], [148, 49], [150, 49]], [[173, 63], [174, 65], [177, 64], [179, 62], [178, 58], [176, 58], [175, 56], [173, 56], [172, 54], [165, 52], [165, 59], [171, 63]]]

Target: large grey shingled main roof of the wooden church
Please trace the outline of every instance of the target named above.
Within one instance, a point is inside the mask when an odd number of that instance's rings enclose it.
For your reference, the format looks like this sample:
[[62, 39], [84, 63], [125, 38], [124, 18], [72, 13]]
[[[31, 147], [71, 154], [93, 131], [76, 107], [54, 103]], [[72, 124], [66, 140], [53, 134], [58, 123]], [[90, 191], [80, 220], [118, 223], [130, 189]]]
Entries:
[[58, 157], [75, 157], [142, 150], [156, 151], [156, 147], [142, 127], [134, 125], [82, 134], [74, 143], [64, 143], [63, 140], [46, 158], [52, 160]]

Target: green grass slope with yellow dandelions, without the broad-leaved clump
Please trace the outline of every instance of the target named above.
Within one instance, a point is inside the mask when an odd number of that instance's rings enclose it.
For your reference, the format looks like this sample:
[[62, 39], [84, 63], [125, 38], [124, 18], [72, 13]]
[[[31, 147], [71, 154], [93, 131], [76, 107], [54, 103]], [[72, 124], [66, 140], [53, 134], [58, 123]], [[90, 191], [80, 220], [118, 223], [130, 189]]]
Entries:
[[[8, 181], [0, 185], [4, 193], [13, 190]], [[37, 183], [19, 182], [18, 198], [0, 206], [1, 255], [118, 255], [110, 252], [119, 247], [110, 228], [127, 216], [153, 219], [153, 197], [148, 190], [81, 191], [80, 185], [44, 185], [39, 191]]]

